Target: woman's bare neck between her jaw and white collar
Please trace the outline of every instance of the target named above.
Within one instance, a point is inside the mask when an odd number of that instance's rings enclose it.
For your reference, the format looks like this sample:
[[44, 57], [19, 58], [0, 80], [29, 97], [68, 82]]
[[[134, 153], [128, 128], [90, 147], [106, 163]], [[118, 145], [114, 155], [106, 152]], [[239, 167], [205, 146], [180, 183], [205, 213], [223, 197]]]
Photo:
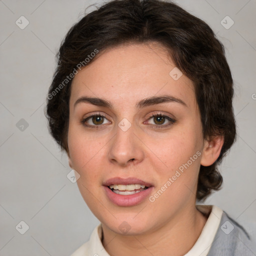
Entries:
[[207, 220], [193, 207], [172, 216], [164, 225], [142, 235], [121, 235], [102, 224], [102, 244], [109, 255], [129, 256], [134, 252], [141, 256], [177, 256], [187, 253], [198, 239]]

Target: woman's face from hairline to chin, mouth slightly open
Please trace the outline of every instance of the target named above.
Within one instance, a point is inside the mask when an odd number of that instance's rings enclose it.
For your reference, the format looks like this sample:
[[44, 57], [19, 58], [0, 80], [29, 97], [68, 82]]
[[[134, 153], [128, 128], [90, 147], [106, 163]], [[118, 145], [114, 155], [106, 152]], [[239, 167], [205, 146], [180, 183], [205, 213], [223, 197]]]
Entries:
[[[113, 232], [149, 233], [194, 207], [204, 140], [192, 81], [174, 67], [160, 45], [130, 44], [73, 78], [69, 164], [84, 201]], [[124, 180], [107, 183], [115, 177]], [[130, 195], [107, 186], [141, 183], [148, 188]]]

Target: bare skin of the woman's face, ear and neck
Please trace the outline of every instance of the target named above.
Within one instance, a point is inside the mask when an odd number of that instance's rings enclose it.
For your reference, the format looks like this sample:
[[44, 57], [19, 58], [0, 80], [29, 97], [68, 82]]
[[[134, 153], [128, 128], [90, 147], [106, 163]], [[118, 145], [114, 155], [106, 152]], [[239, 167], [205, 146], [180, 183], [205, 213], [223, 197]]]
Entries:
[[[174, 80], [175, 67], [167, 51], [157, 43], [128, 44], [108, 48], [73, 78], [69, 101], [67, 135], [69, 165], [80, 178], [80, 193], [102, 223], [102, 244], [109, 255], [183, 255], [193, 246], [207, 220], [195, 208], [200, 164], [210, 165], [218, 157], [223, 137], [203, 139], [193, 83], [184, 74]], [[137, 101], [169, 94], [178, 102], [165, 102], [137, 109]], [[113, 109], [74, 102], [81, 96], [100, 97]], [[90, 114], [105, 114], [101, 128], [86, 127]], [[150, 117], [161, 113], [164, 128]], [[125, 132], [118, 123], [126, 118], [132, 125]], [[163, 121], [162, 121], [163, 122]], [[90, 118], [87, 125], [96, 125]], [[105, 194], [108, 178], [137, 177], [153, 184], [156, 193], [179, 166], [197, 151], [201, 154], [158, 197], [134, 206], [117, 206]], [[130, 159], [134, 158], [133, 161]], [[118, 226], [126, 221], [130, 230]], [[206, 249], [206, 248], [205, 248]]]

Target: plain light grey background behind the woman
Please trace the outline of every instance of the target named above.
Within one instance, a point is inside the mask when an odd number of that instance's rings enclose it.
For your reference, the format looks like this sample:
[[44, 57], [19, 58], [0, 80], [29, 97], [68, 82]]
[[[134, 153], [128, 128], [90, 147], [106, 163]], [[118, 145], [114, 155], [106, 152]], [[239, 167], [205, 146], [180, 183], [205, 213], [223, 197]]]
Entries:
[[[0, 1], [0, 255], [68, 255], [99, 223], [66, 177], [66, 154], [49, 135], [43, 110], [61, 39], [89, 4], [101, 2]], [[221, 164], [223, 188], [204, 203], [239, 223], [255, 221], [256, 1], [176, 2], [217, 33], [235, 86], [237, 141]], [[21, 15], [29, 21], [24, 29], [15, 24]], [[234, 21], [229, 29], [220, 23], [226, 15]], [[24, 234], [15, 229], [21, 220], [29, 226]]]

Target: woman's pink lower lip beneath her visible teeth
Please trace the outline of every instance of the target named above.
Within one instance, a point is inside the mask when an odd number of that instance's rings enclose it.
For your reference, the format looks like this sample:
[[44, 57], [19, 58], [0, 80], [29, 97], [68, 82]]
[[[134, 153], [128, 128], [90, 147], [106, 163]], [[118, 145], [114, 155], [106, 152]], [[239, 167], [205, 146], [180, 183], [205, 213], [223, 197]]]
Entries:
[[116, 205], [119, 206], [133, 206], [139, 204], [152, 192], [153, 186], [134, 194], [116, 194], [108, 186], [104, 186], [107, 197]]

